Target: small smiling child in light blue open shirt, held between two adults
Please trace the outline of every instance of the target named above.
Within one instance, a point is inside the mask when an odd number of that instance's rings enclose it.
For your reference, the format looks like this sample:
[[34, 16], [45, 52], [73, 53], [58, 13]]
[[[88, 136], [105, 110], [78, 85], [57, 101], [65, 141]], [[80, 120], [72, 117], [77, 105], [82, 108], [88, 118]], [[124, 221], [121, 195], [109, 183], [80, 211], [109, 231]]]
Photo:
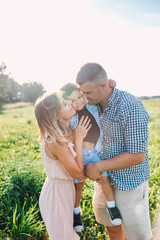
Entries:
[[[115, 85], [115, 82], [110, 80], [110, 85]], [[76, 110], [76, 114], [70, 120], [70, 127], [75, 129], [82, 116], [88, 116], [91, 120], [92, 127], [88, 131], [87, 136], [83, 140], [83, 161], [84, 165], [90, 162], [102, 161], [98, 153], [101, 150], [102, 144], [102, 132], [99, 123], [98, 107], [96, 105], [89, 105], [83, 94], [80, 92], [76, 84], [68, 83], [61, 88], [63, 92], [63, 98], [72, 101], [73, 108]], [[76, 188], [76, 200], [74, 208], [74, 228], [77, 232], [82, 231], [83, 222], [80, 213], [80, 200], [82, 189], [84, 186], [84, 180], [74, 179]], [[108, 172], [103, 172], [102, 176], [103, 193], [106, 198], [107, 208], [109, 212], [110, 220], [114, 225], [121, 224], [121, 215], [119, 209], [115, 205], [114, 193], [109, 181]]]

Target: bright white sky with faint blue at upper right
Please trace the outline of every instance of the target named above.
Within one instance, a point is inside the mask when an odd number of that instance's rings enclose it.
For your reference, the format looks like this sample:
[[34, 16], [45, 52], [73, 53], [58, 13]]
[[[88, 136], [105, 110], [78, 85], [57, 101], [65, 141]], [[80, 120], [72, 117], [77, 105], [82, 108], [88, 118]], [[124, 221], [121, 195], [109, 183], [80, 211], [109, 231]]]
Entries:
[[159, 0], [0, 0], [0, 64], [57, 91], [86, 62], [117, 87], [160, 95]]

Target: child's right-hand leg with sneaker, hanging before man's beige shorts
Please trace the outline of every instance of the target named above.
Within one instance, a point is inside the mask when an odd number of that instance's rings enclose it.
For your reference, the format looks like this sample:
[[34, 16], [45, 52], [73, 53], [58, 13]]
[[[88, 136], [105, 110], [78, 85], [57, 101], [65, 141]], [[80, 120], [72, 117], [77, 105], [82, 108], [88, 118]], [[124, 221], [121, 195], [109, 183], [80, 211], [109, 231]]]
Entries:
[[106, 210], [109, 213], [110, 221], [114, 225], [120, 225], [122, 222], [121, 220], [122, 218], [121, 218], [119, 209], [116, 207], [113, 188], [110, 184], [110, 180], [107, 172], [104, 172], [104, 176], [102, 176], [101, 187], [106, 198], [106, 202], [107, 202]]

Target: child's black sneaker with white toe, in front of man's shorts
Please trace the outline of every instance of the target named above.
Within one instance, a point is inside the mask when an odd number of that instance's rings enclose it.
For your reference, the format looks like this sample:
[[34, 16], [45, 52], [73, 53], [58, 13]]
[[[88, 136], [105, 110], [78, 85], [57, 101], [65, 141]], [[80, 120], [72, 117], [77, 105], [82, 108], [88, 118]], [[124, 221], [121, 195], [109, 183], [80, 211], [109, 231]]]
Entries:
[[106, 208], [109, 213], [110, 221], [113, 225], [121, 225], [122, 217], [117, 207]]

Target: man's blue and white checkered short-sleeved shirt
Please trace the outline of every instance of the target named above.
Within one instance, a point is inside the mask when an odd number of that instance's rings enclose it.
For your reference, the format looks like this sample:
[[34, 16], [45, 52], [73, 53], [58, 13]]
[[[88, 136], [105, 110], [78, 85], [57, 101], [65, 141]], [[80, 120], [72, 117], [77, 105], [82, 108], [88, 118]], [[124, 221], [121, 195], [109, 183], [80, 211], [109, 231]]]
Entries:
[[133, 167], [109, 171], [110, 182], [119, 190], [138, 187], [149, 179], [148, 120], [149, 114], [143, 104], [133, 95], [114, 89], [107, 108], [99, 107], [103, 132], [100, 157], [113, 158], [121, 153], [146, 152], [145, 161]]

